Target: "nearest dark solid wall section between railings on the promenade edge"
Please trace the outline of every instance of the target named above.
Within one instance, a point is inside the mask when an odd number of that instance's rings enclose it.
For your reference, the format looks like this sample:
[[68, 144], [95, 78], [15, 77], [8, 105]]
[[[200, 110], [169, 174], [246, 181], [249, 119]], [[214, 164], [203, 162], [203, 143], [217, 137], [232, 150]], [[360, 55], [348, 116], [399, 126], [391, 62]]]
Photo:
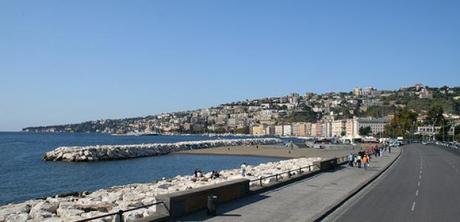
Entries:
[[181, 217], [206, 209], [208, 196], [216, 195], [218, 203], [228, 202], [246, 196], [249, 193], [249, 180], [237, 179], [188, 191], [165, 195], [159, 199], [166, 203], [170, 217]]

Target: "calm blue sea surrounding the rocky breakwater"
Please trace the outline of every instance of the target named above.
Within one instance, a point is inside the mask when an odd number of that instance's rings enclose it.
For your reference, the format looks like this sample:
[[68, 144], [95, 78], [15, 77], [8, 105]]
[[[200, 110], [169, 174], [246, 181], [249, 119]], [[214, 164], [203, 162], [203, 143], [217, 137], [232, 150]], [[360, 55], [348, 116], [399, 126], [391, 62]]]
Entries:
[[[226, 137], [234, 138], [234, 137]], [[38, 134], [0, 132], [0, 205], [73, 191], [151, 182], [162, 177], [238, 168], [276, 158], [164, 155], [94, 163], [45, 162], [43, 154], [58, 146], [139, 144], [209, 140], [207, 136], [111, 136], [104, 134]]]

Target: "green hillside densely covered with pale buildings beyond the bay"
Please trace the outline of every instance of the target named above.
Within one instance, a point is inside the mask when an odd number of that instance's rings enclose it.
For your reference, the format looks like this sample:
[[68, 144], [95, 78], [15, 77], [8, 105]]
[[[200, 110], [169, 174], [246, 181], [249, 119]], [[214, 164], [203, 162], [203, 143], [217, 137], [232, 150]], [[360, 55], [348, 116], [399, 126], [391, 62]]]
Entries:
[[[399, 90], [354, 88], [350, 92], [292, 93], [216, 107], [127, 119], [27, 127], [27, 132], [239, 133], [254, 135], [335, 137], [382, 135], [399, 110], [417, 113], [427, 122], [433, 106], [447, 119], [460, 115], [460, 87], [415, 84]], [[428, 123], [428, 122], [427, 122]]]

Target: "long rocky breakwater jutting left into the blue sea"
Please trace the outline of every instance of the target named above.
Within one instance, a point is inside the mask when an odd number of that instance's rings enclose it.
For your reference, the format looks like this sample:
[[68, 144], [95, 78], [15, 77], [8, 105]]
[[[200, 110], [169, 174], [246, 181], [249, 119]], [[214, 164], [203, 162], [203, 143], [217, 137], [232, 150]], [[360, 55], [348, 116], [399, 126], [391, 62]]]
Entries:
[[163, 155], [181, 150], [203, 149], [220, 146], [266, 145], [281, 142], [282, 141], [277, 138], [250, 138], [133, 145], [63, 146], [47, 152], [43, 159], [47, 161], [66, 162], [120, 160]]

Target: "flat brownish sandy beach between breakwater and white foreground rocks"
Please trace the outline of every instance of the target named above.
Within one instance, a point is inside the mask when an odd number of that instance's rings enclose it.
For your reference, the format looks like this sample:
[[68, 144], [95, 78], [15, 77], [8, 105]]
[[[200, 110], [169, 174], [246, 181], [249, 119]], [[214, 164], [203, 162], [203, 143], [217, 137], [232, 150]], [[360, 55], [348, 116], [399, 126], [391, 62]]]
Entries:
[[314, 149], [314, 148], [286, 148], [282, 145], [259, 145], [259, 146], [225, 146], [207, 149], [185, 150], [174, 154], [194, 155], [235, 155], [235, 156], [260, 156], [292, 159], [300, 157], [340, 157], [356, 152], [360, 147], [344, 147], [343, 149]]

